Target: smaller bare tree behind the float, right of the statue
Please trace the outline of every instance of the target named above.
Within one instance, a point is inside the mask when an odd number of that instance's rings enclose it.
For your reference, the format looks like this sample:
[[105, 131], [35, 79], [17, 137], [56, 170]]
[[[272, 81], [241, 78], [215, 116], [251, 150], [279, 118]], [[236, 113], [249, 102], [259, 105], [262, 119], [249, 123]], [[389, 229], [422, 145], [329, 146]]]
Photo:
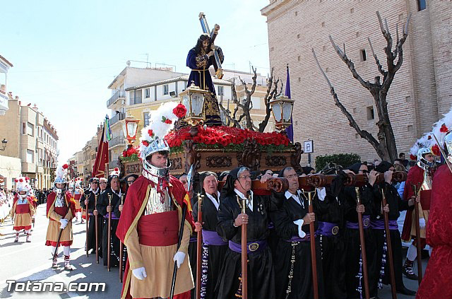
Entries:
[[[254, 73], [254, 76], [252, 77], [253, 83], [251, 84], [251, 89], [249, 89], [248, 86], [246, 85], [246, 82], [244, 80], [242, 80], [242, 78], [239, 77], [240, 83], [243, 86], [244, 92], [245, 92], [244, 100], [240, 101], [239, 98], [237, 97], [237, 90], [235, 89], [235, 82], [233, 82], [233, 84], [232, 84], [232, 102], [235, 104], [234, 110], [231, 112], [229, 109], [223, 107], [223, 105], [221, 103], [219, 103], [219, 106], [220, 106], [220, 110], [222, 110], [223, 114], [225, 115], [225, 117], [227, 119], [227, 123], [226, 123], [227, 126], [232, 124], [232, 127], [238, 127], [238, 128], [243, 127], [242, 129], [249, 129], [251, 131], [258, 130], [258, 131], [263, 132], [263, 130], [266, 128], [266, 126], [268, 124], [268, 119], [270, 119], [270, 112], [271, 112], [270, 100], [272, 98], [275, 98], [276, 96], [280, 95], [280, 93], [283, 90], [283, 86], [281, 86], [280, 91], [278, 93], [279, 79], [274, 81], [273, 69], [272, 69], [270, 72], [270, 78], [268, 78], [267, 93], [266, 93], [266, 96], [264, 97], [264, 102], [266, 105], [266, 117], [258, 125], [258, 127], [256, 127], [256, 125], [253, 122], [253, 119], [251, 119], [251, 109], [253, 109], [253, 102], [251, 102], [251, 96], [256, 91], [257, 73], [256, 73], [256, 68], [254, 68], [254, 66], [251, 66], [251, 68]], [[241, 114], [237, 117], [237, 113], [241, 113]], [[242, 126], [242, 124], [241, 124], [243, 119], [245, 121], [244, 126]]]

